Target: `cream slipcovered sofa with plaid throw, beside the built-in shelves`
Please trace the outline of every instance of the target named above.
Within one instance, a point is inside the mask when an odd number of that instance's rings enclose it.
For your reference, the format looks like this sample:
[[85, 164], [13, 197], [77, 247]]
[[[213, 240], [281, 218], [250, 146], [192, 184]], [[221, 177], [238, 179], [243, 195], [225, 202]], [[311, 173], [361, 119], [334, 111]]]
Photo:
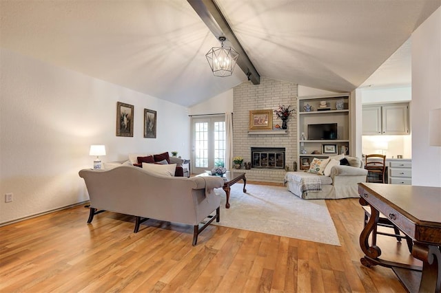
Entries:
[[[332, 166], [329, 176], [309, 172], [287, 172], [285, 184], [291, 193], [302, 199], [341, 199], [359, 197], [358, 182], [366, 182], [367, 170], [359, 158], [345, 156], [350, 166]], [[305, 181], [317, 180], [320, 188], [305, 187]], [[320, 190], [314, 190], [320, 189]]]

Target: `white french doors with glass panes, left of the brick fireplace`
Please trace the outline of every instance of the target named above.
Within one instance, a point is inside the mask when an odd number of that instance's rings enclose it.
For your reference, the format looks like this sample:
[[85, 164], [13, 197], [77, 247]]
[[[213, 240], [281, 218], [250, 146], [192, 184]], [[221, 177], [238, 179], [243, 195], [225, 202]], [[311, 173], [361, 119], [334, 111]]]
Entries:
[[192, 118], [192, 173], [225, 166], [225, 116]]

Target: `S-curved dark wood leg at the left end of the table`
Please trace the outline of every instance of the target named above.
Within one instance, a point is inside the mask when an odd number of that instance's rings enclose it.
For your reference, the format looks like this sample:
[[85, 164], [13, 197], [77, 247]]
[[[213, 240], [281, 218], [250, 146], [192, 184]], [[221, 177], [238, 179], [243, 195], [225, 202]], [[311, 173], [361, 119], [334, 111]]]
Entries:
[[[368, 203], [362, 197], [360, 197], [360, 204], [362, 206], [368, 205]], [[366, 255], [365, 257], [360, 259], [360, 262], [362, 263], [362, 265], [365, 265], [367, 267], [379, 264], [375, 259], [377, 259], [381, 255], [380, 248], [375, 244], [373, 244], [373, 246], [369, 246], [369, 235], [371, 235], [372, 231], [375, 230], [379, 217], [380, 213], [378, 212], [378, 210], [371, 206], [371, 217], [369, 218], [369, 221], [367, 221], [365, 228], [363, 228], [360, 234], [360, 248], [363, 252], [365, 252]]]

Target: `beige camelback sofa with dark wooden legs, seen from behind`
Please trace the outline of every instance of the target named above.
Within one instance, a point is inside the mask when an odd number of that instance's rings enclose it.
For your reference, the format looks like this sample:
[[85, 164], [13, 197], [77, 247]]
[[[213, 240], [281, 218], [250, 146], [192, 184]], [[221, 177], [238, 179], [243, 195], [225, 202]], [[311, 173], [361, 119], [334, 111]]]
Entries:
[[[136, 166], [110, 170], [79, 171], [90, 197], [91, 223], [103, 210], [136, 216], [134, 232], [146, 219], [172, 221], [194, 226], [193, 245], [214, 219], [220, 219], [220, 197], [213, 191], [223, 186], [220, 177], [172, 177], [156, 175]], [[210, 216], [216, 210], [216, 215]], [[203, 226], [199, 224], [209, 217]], [[145, 218], [145, 219], [143, 219]]]

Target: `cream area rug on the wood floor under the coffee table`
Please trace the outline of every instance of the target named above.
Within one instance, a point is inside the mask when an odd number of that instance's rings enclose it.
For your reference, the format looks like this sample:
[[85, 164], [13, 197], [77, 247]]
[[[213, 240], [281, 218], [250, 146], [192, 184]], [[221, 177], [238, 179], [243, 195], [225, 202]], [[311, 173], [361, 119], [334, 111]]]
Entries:
[[282, 186], [243, 184], [231, 186], [230, 208], [225, 192], [220, 195], [220, 222], [213, 224], [271, 235], [340, 246], [334, 222], [323, 199], [300, 199]]

